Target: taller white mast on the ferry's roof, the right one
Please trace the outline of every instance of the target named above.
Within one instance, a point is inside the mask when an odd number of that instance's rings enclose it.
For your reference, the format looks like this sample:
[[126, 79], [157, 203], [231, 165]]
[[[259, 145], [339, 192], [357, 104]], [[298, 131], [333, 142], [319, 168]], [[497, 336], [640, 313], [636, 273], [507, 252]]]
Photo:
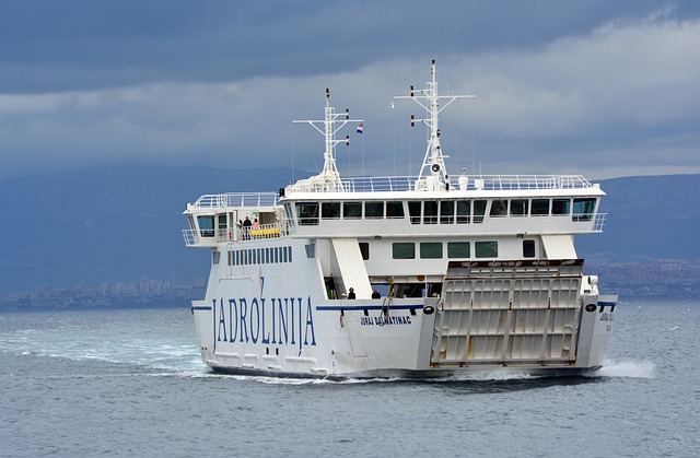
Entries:
[[[451, 103], [457, 98], [474, 98], [474, 95], [443, 95], [438, 94], [438, 81], [435, 75], [435, 60], [430, 64], [430, 74], [432, 81], [427, 83], [427, 89], [415, 90], [410, 87], [410, 95], [396, 96], [394, 99], [411, 99], [422, 106], [427, 111], [427, 117], [417, 119], [411, 115], [411, 127], [416, 122], [423, 122], [428, 127], [428, 149], [423, 157], [423, 165], [420, 168], [418, 180], [416, 181], [417, 190], [443, 190], [447, 184], [447, 169], [445, 167], [445, 157], [450, 157], [442, 153], [440, 148], [440, 121], [439, 114], [445, 109]], [[420, 95], [417, 95], [420, 94]], [[442, 107], [440, 102], [444, 102]]]

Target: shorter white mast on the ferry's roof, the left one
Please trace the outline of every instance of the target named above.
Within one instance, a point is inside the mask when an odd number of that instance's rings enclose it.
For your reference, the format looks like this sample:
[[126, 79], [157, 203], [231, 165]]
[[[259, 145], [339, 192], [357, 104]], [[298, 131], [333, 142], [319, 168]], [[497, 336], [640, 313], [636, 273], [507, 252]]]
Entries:
[[[306, 122], [320, 132], [325, 138], [326, 149], [324, 151], [324, 169], [320, 174], [311, 177], [312, 186], [318, 190], [341, 191], [340, 174], [336, 165], [335, 149], [338, 143], [350, 144], [350, 136], [345, 139], [336, 139], [336, 133], [348, 122], [364, 122], [363, 119], [350, 119], [350, 111], [336, 113], [336, 108], [330, 106], [330, 91], [326, 89], [326, 107], [323, 120], [293, 120], [292, 122]], [[345, 117], [345, 119], [341, 119]], [[319, 127], [320, 126], [320, 127]]]

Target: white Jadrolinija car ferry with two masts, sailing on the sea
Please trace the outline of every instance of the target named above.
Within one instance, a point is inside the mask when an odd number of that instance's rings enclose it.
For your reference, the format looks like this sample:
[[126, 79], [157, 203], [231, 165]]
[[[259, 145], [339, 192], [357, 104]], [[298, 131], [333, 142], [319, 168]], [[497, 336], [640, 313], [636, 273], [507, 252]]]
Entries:
[[210, 251], [191, 310], [205, 364], [230, 374], [458, 377], [583, 375], [604, 357], [617, 297], [583, 274], [578, 234], [600, 233], [605, 192], [582, 176], [453, 176], [435, 62], [408, 99], [428, 130], [416, 177], [341, 178], [350, 119], [301, 120], [325, 139], [324, 168], [277, 192], [201, 196], [188, 247]]

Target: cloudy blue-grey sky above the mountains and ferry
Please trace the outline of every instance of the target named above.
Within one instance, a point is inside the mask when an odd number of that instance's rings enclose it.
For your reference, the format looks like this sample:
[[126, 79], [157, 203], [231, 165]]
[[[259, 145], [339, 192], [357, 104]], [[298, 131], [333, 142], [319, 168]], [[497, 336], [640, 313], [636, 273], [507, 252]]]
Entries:
[[458, 174], [700, 174], [695, 0], [0, 0], [0, 179], [114, 163], [417, 175], [436, 61]]

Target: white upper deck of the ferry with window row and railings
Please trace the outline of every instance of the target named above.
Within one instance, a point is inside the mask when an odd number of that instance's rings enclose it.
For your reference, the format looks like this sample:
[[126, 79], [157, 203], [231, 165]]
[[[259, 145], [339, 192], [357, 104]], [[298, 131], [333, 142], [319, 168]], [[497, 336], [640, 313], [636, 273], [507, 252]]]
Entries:
[[[301, 180], [283, 195], [205, 195], [187, 205], [185, 239], [188, 246], [212, 246], [279, 236], [584, 234], [602, 232], [605, 222], [598, 213], [604, 192], [581, 176], [459, 176], [443, 190], [416, 190], [416, 177], [341, 183], [335, 190]], [[249, 228], [242, 224], [246, 216], [256, 220]]]

